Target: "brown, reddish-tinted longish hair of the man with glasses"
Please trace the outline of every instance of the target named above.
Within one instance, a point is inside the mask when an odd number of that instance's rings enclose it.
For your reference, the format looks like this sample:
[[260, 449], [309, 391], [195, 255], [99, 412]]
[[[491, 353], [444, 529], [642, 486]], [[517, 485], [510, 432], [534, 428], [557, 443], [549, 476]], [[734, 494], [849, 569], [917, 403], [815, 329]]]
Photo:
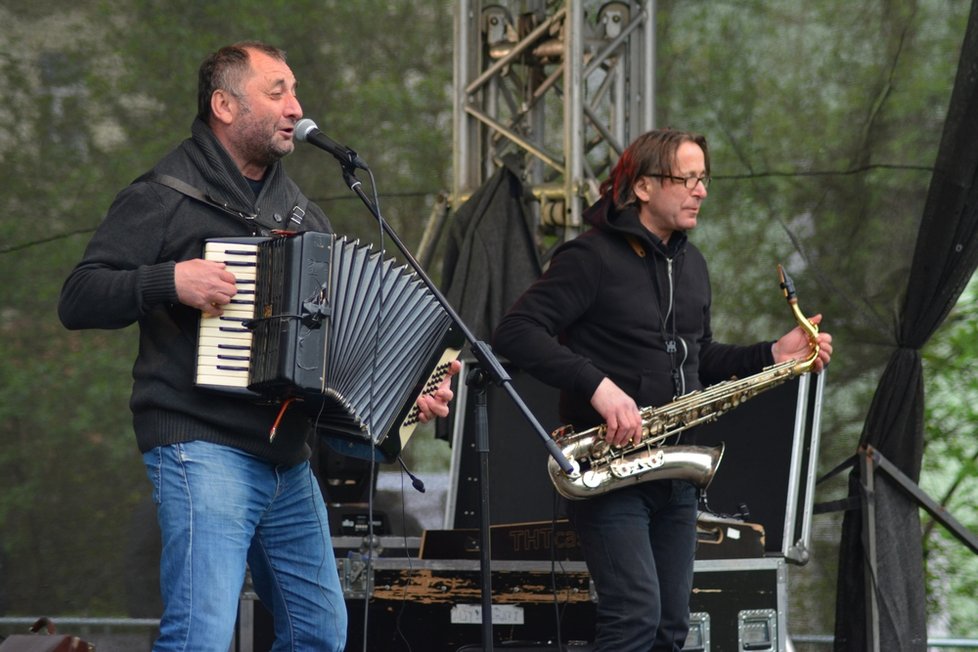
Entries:
[[608, 179], [601, 184], [601, 194], [611, 193], [616, 208], [625, 208], [636, 201], [633, 187], [642, 175], [673, 174], [676, 152], [683, 143], [696, 143], [703, 150], [706, 174], [710, 174], [710, 150], [706, 137], [692, 131], [653, 129], [625, 148]]

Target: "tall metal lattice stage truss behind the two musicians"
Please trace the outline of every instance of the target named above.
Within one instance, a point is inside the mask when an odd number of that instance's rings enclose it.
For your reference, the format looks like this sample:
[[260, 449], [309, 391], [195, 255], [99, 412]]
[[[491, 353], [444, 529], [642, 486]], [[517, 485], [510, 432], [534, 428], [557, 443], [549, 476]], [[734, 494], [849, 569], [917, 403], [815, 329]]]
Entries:
[[563, 240], [624, 147], [653, 127], [655, 2], [455, 4], [452, 191], [447, 213], [518, 157], [538, 225]]

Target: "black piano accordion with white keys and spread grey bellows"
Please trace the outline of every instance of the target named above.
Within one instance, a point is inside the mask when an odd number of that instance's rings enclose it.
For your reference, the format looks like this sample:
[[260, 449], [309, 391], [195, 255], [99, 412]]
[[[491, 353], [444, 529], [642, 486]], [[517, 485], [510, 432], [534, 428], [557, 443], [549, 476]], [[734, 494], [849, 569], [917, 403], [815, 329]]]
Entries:
[[201, 316], [198, 387], [299, 401], [339, 452], [393, 461], [462, 337], [406, 265], [332, 234], [214, 238], [237, 294]]

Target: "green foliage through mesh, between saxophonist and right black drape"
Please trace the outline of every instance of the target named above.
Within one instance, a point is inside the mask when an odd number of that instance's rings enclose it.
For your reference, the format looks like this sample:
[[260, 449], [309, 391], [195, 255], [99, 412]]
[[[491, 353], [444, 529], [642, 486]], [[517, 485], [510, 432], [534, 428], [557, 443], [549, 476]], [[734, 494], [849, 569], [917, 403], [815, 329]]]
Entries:
[[[658, 123], [711, 146], [692, 238], [711, 262], [716, 334], [773, 339], [791, 325], [774, 272], [785, 264], [802, 309], [835, 336], [828, 471], [855, 452], [892, 351], [969, 5], [657, 4]], [[843, 497], [845, 477], [816, 499]], [[816, 516], [812, 561], [791, 569], [794, 632], [832, 629], [840, 523]]]

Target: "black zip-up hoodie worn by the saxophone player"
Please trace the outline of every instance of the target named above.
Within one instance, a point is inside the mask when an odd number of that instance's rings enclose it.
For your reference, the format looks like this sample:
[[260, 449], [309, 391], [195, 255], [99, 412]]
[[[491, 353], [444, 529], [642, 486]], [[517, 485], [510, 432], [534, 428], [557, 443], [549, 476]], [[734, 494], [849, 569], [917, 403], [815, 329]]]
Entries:
[[605, 377], [646, 407], [774, 362], [771, 342], [713, 341], [709, 271], [685, 233], [664, 245], [607, 196], [584, 219], [591, 228], [561, 245], [493, 335], [500, 355], [561, 390], [566, 423], [602, 422], [590, 399]]

